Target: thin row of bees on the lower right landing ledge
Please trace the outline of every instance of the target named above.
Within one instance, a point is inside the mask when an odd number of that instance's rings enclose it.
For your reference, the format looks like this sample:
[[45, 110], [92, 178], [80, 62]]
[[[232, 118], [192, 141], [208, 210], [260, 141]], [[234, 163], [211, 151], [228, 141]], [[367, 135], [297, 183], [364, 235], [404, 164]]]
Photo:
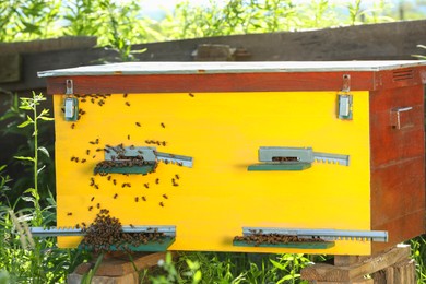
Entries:
[[253, 244], [256, 247], [262, 244], [280, 245], [288, 242], [321, 242], [324, 240], [321, 238], [300, 238], [298, 236], [282, 234], [263, 234], [261, 230], [258, 230], [247, 236], [236, 236], [234, 237], [234, 241], [245, 241], [247, 244]]

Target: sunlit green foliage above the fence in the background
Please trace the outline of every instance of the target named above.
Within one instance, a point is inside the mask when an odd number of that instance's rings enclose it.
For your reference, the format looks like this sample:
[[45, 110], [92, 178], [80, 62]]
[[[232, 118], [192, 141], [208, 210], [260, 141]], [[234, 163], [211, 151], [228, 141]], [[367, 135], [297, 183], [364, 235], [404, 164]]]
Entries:
[[204, 5], [194, 2], [182, 0], [163, 20], [155, 21], [144, 16], [144, 2], [138, 0], [0, 1], [0, 42], [87, 35], [97, 36], [100, 46], [125, 49], [130, 44], [155, 40], [424, 17], [405, 1], [390, 0], [210, 0]]

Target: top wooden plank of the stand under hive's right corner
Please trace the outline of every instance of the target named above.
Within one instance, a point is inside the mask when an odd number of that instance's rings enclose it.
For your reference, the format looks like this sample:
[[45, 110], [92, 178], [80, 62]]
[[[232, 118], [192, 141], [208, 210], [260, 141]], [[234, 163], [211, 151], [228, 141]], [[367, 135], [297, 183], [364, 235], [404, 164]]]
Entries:
[[350, 267], [318, 263], [301, 270], [301, 279], [308, 281], [350, 282], [382, 270], [410, 257], [410, 246], [392, 248], [381, 255], [368, 258]]

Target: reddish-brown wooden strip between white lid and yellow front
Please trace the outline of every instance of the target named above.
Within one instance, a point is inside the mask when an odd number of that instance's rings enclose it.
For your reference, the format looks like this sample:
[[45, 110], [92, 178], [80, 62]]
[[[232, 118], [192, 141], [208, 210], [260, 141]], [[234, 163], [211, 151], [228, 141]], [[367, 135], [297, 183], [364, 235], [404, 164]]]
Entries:
[[[72, 76], [75, 94], [280, 92], [342, 88], [343, 74], [351, 74], [351, 90], [371, 90], [371, 72], [221, 73]], [[49, 78], [48, 94], [63, 94], [67, 76]], [[94, 83], [96, 82], [96, 83]]]

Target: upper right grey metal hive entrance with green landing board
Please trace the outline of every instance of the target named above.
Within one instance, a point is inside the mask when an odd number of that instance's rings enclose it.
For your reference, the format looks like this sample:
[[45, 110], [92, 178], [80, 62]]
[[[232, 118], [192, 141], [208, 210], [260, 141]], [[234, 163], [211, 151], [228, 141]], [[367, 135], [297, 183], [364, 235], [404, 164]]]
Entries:
[[313, 152], [312, 147], [259, 147], [259, 162], [248, 170], [303, 170], [313, 162], [348, 166], [350, 156]]

